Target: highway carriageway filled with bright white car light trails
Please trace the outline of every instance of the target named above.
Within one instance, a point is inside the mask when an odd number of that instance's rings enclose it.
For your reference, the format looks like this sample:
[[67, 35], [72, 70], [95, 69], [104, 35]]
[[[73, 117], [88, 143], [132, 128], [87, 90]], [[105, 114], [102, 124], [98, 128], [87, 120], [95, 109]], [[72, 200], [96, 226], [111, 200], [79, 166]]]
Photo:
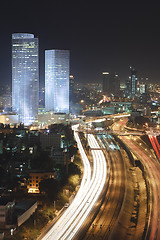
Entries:
[[[76, 127], [74, 127], [74, 130], [76, 130]], [[88, 219], [106, 181], [106, 159], [95, 137], [92, 134], [88, 134], [87, 136], [93, 156], [93, 169], [91, 172], [89, 160], [76, 131], [74, 131], [74, 136], [84, 164], [81, 186], [73, 202], [42, 238], [43, 240], [77, 239], [77, 236], [80, 236], [81, 226]]]

